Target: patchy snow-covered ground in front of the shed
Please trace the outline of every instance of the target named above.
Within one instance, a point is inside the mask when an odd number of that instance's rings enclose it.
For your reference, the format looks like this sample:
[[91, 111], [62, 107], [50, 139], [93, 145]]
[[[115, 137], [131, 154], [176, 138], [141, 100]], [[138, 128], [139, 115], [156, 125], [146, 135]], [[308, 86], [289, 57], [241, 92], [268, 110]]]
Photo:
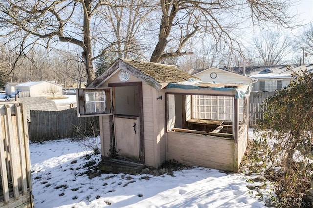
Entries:
[[[251, 132], [251, 131], [250, 131]], [[36, 208], [259, 208], [244, 174], [193, 167], [168, 174], [101, 174], [89, 179], [98, 163], [70, 139], [30, 143]]]

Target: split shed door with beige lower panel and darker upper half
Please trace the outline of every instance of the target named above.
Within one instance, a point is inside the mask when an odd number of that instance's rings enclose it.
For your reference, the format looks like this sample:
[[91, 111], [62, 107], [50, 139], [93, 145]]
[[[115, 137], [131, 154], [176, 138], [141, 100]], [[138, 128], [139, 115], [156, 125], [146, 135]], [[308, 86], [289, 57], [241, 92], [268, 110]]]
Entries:
[[144, 163], [142, 83], [112, 83], [115, 151]]

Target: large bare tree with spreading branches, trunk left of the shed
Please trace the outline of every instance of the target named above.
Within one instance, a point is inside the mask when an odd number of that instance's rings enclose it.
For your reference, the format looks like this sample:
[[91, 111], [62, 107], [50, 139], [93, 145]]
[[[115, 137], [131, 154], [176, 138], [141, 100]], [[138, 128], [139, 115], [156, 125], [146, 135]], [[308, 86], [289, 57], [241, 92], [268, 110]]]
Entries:
[[[134, 1], [134, 2], [133, 2]], [[76, 45], [82, 49], [82, 59], [87, 74], [87, 83], [89, 84], [94, 78], [93, 60], [101, 57], [106, 50], [112, 45], [118, 45], [117, 51], [122, 50], [121, 44], [126, 43], [125, 53], [130, 50], [131, 44], [135, 42], [134, 34], [138, 31], [136, 26], [141, 18], [141, 14], [136, 7], [136, 3], [142, 1], [132, 0], [133, 5], [124, 0], [6, 0], [0, 1], [0, 36], [6, 37], [7, 40], [17, 42], [18, 57], [16, 60], [27, 55], [30, 49], [35, 45], [42, 45], [47, 49], [64, 47], [60, 42]], [[121, 3], [121, 4], [119, 4]], [[134, 24], [128, 25], [128, 30], [121, 33], [117, 30], [119, 27], [108, 27], [107, 22], [120, 24], [125, 13], [119, 13], [112, 16], [102, 11], [108, 11], [111, 7], [126, 8], [129, 11], [129, 22]], [[115, 9], [116, 12], [120, 11]], [[115, 11], [114, 10], [114, 11]], [[111, 19], [112, 18], [112, 19]], [[116, 32], [117, 31], [117, 32]], [[124, 31], [124, 28], [123, 28]], [[114, 37], [114, 32], [117, 38]], [[137, 43], [135, 43], [137, 44]], [[99, 45], [103, 50], [93, 55], [94, 49]], [[70, 47], [65, 47], [67, 51]], [[14, 70], [14, 63], [11, 71]], [[10, 72], [8, 72], [10, 73]]]

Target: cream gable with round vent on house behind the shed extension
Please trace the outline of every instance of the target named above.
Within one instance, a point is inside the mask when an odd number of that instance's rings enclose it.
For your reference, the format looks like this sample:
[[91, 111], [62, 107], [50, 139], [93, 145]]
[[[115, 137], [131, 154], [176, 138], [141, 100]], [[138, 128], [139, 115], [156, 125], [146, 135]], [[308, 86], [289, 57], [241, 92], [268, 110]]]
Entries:
[[201, 72], [193, 74], [193, 76], [196, 76], [207, 83], [244, 84], [252, 87], [252, 84], [257, 82], [257, 79], [253, 77], [240, 75], [238, 73], [216, 67], [205, 69]]

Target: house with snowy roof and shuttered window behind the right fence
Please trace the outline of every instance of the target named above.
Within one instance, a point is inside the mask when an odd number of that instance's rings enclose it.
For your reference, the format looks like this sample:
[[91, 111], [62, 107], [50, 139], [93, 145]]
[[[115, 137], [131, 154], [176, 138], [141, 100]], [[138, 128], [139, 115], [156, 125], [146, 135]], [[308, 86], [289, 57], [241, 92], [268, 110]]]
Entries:
[[245, 70], [239, 67], [232, 68], [237, 73], [245, 72], [246, 76], [255, 78], [258, 82], [252, 85], [252, 91], [273, 92], [286, 87], [291, 81], [291, 74], [300, 70], [313, 71], [313, 64], [294, 64], [278, 66], [252, 66]]

